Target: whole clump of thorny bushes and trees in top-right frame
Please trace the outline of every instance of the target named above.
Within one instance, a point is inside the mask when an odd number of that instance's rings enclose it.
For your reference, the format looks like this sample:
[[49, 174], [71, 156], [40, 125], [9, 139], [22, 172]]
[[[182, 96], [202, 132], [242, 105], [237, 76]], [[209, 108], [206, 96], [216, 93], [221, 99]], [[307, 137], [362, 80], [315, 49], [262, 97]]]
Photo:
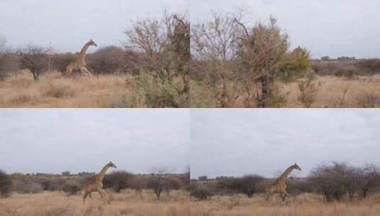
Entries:
[[277, 75], [309, 67], [303, 48], [289, 51], [288, 35], [275, 18], [268, 23], [243, 23], [244, 13], [213, 13], [212, 21], [192, 26], [195, 75], [209, 85], [220, 107], [275, 107]]

